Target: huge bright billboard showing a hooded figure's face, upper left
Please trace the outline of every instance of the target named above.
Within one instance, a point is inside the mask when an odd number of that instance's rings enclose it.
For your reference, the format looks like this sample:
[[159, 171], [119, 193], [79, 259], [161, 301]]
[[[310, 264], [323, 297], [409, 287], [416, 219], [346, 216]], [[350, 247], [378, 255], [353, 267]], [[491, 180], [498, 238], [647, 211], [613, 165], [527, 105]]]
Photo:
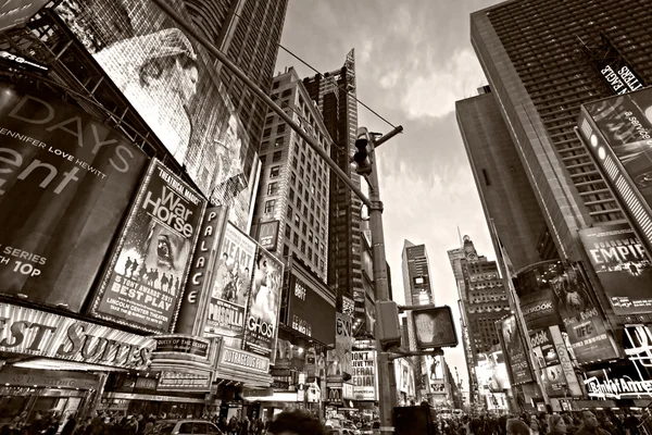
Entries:
[[65, 0], [55, 11], [203, 195], [247, 231], [258, 159], [205, 50], [150, 0]]

